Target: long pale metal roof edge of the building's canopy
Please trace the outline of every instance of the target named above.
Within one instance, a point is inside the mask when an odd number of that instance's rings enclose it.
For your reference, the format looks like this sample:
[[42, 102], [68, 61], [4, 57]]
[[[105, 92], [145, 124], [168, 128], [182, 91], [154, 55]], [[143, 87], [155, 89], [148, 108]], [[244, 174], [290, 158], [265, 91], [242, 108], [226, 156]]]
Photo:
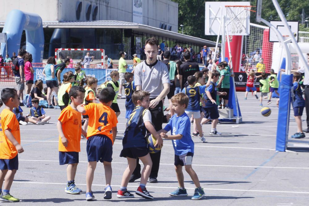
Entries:
[[[0, 27], [4, 26], [5, 22], [0, 22]], [[158, 35], [166, 38], [173, 38], [178, 41], [190, 42], [208, 47], [216, 46], [216, 42], [202, 38], [197, 38], [185, 34], [176, 33], [173, 31], [163, 30], [152, 26], [147, 26], [132, 22], [121, 21], [65, 21], [65, 22], [43, 22], [43, 28], [108, 28], [108, 29], [132, 29], [137, 32]], [[221, 46], [221, 44], [220, 44]]]

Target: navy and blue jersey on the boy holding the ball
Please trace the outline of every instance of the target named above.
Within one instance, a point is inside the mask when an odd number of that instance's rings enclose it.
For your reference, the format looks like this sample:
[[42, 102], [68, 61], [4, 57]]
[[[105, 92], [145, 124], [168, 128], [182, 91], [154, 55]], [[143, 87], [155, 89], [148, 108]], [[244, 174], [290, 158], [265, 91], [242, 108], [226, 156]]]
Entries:
[[146, 126], [143, 116], [147, 109], [137, 106], [132, 111], [127, 121], [124, 138], [122, 139], [123, 148], [129, 147], [148, 147], [146, 136]]

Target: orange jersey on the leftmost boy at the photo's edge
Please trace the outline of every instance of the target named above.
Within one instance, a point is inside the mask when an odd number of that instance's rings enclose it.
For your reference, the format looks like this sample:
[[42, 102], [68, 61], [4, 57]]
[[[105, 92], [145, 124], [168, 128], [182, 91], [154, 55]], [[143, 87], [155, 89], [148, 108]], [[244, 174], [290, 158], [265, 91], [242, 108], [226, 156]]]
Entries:
[[6, 137], [4, 131], [11, 130], [12, 135], [20, 144], [19, 123], [13, 112], [8, 109], [2, 110], [0, 114], [0, 159], [10, 160], [18, 154], [16, 147]]

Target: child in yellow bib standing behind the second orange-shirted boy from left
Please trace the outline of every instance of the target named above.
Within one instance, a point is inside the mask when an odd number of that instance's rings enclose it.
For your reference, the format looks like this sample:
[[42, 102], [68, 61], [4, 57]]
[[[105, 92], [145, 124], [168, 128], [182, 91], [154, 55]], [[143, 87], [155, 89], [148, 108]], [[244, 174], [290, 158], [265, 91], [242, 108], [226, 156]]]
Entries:
[[58, 90], [58, 104], [61, 111], [69, 105], [70, 97], [69, 92], [74, 82], [74, 75], [72, 71], [68, 71], [63, 75], [63, 83]]

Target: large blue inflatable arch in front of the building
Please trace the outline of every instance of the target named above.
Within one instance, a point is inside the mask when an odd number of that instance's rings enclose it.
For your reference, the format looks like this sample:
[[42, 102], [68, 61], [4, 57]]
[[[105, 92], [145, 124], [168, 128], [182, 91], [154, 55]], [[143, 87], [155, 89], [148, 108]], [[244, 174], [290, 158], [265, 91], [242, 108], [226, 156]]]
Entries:
[[6, 33], [7, 42], [1, 44], [0, 54], [5, 56], [6, 46], [9, 56], [12, 52], [18, 54], [23, 30], [26, 31], [26, 50], [32, 54], [32, 62], [41, 63], [44, 52], [42, 18], [21, 10], [12, 10], [6, 17], [2, 33]]

